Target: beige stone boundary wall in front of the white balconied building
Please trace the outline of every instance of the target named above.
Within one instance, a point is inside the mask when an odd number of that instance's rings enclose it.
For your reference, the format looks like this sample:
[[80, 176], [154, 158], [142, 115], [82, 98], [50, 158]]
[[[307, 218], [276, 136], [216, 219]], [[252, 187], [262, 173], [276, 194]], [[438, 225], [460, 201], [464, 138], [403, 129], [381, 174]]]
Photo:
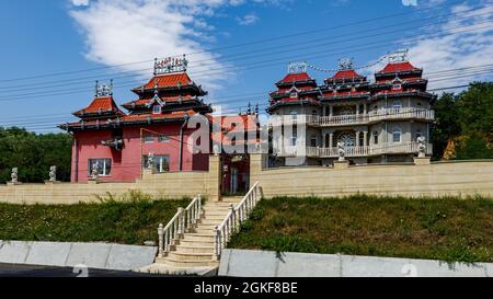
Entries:
[[493, 196], [493, 160], [416, 164], [379, 164], [332, 169], [265, 169], [265, 157], [251, 154], [251, 182], [261, 182], [265, 197], [377, 195]]

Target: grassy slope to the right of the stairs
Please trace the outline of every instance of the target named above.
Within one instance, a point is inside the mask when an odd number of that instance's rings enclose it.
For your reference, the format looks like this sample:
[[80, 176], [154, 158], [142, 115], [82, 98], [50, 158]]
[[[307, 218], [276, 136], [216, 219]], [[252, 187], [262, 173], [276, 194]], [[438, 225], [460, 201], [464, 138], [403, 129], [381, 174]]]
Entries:
[[493, 200], [279, 197], [261, 200], [228, 246], [493, 262]]

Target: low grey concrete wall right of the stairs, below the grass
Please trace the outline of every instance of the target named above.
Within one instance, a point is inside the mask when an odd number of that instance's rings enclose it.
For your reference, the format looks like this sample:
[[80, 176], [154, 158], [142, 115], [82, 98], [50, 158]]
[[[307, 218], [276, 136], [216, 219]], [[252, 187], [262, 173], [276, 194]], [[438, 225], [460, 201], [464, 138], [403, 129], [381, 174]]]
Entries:
[[223, 250], [219, 276], [239, 277], [491, 277], [493, 264], [341, 254]]

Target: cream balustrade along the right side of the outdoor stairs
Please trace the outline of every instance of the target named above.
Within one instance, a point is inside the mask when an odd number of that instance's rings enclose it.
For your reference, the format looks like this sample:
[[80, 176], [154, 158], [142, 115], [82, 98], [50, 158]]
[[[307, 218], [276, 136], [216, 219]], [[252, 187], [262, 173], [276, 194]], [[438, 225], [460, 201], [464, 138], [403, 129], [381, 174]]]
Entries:
[[249, 218], [260, 198], [260, 184], [255, 182], [236, 208], [232, 204], [229, 206], [225, 220], [215, 228], [214, 254], [216, 258], [219, 260], [222, 249], [226, 248], [232, 234], [239, 230], [241, 223]]

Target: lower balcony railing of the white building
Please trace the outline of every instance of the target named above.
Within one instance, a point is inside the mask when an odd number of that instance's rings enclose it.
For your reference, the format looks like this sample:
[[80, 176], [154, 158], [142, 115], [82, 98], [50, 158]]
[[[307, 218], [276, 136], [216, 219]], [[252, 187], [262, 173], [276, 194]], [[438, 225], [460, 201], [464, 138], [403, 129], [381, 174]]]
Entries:
[[[417, 142], [400, 142], [400, 143], [385, 143], [375, 147], [346, 147], [345, 157], [368, 157], [388, 153], [417, 153]], [[426, 154], [433, 153], [433, 146], [426, 143]], [[307, 147], [307, 157], [317, 158], [336, 158], [339, 157], [337, 148], [314, 148]]]

